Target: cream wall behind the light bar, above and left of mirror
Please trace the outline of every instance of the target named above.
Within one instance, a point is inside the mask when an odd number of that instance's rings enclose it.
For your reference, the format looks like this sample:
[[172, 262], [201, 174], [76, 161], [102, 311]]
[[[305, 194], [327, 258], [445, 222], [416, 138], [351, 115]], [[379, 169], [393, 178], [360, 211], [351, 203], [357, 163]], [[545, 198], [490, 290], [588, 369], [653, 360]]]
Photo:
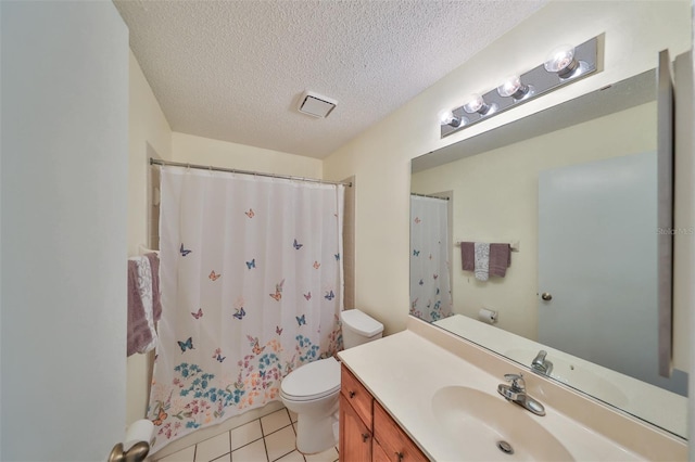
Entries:
[[[408, 313], [409, 162], [518, 117], [653, 68], [657, 52], [691, 46], [690, 1], [552, 1], [442, 80], [338, 150], [324, 163], [326, 179], [355, 175], [356, 306], [405, 329]], [[605, 34], [604, 70], [444, 140], [437, 114], [466, 95], [485, 92], [509, 74], [543, 62], [549, 49]], [[445, 44], [443, 44], [445, 46]], [[678, 278], [678, 274], [677, 274]]]

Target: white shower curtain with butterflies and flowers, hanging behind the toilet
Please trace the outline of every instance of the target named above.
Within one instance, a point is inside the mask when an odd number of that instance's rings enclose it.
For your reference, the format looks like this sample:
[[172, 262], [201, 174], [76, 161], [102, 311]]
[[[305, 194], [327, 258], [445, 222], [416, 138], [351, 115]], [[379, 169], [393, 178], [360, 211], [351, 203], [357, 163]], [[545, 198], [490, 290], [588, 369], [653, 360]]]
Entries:
[[161, 169], [153, 452], [342, 348], [342, 185]]

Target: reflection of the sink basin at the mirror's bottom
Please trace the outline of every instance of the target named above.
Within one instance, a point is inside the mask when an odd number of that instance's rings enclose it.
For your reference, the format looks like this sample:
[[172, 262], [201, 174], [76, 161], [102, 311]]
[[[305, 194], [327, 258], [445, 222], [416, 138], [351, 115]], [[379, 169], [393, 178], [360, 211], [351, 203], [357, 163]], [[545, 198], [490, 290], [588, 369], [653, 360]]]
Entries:
[[[538, 351], [527, 349], [511, 349], [505, 351], [507, 358], [521, 362], [525, 365], [531, 365], [531, 361], [535, 358]], [[551, 378], [555, 378], [566, 385], [580, 389], [603, 401], [610, 402], [619, 408], [628, 405], [629, 399], [624, 393], [615, 384], [602, 377], [597, 372], [587, 369], [586, 365], [579, 361], [570, 361], [560, 358], [557, 355], [548, 355], [547, 359], [553, 362]], [[601, 368], [597, 365], [597, 368]]]

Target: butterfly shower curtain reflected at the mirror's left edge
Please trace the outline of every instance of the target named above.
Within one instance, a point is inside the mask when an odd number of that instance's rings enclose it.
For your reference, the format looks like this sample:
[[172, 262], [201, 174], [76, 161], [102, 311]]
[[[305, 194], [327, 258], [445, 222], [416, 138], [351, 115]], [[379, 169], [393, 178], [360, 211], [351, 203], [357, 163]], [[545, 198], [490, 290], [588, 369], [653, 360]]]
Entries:
[[410, 315], [452, 315], [448, 201], [410, 195]]

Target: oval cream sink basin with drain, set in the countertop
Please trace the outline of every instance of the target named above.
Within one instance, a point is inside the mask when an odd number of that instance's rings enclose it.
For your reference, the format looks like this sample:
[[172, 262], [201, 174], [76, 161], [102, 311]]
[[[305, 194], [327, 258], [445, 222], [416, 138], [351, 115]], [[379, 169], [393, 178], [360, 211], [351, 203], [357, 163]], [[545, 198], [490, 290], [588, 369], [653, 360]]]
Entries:
[[432, 410], [462, 461], [572, 461], [565, 447], [523, 408], [463, 386], [437, 390]]

